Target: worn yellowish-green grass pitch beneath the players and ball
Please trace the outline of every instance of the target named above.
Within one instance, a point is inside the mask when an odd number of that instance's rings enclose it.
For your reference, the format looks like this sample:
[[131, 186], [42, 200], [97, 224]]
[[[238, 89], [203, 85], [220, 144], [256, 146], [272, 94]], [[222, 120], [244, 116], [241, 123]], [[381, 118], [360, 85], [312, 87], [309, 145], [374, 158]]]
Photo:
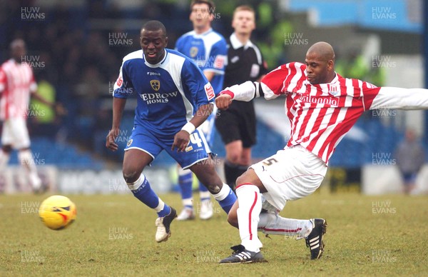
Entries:
[[[209, 221], [174, 221], [156, 243], [156, 213], [131, 194], [68, 197], [77, 219], [52, 231], [39, 220], [44, 196], [0, 196], [0, 276], [426, 276], [428, 196], [315, 193], [281, 215], [327, 219], [325, 252], [310, 260], [305, 241], [266, 238], [269, 263], [219, 265], [240, 243], [217, 203]], [[161, 196], [180, 211], [180, 196]], [[198, 195], [195, 195], [198, 206]]]

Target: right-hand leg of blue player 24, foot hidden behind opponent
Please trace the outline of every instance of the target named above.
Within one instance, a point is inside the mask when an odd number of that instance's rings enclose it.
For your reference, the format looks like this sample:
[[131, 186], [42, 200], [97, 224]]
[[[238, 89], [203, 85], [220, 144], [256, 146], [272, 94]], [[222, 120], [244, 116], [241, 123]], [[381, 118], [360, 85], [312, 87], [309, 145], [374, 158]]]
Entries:
[[235, 193], [230, 189], [228, 185], [221, 181], [217, 172], [215, 171], [214, 161], [212, 158], [195, 163], [190, 166], [190, 170], [195, 173], [199, 181], [208, 188], [208, 191], [213, 195], [215, 200], [218, 201], [221, 208], [226, 213], [229, 213], [233, 203], [236, 201]]

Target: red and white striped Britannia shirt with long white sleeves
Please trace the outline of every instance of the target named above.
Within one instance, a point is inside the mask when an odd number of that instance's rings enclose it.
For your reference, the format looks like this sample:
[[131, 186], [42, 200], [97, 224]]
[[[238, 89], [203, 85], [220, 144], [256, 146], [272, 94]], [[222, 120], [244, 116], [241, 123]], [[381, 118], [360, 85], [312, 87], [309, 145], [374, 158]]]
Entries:
[[301, 145], [327, 164], [337, 144], [369, 109], [428, 109], [428, 90], [378, 88], [336, 74], [329, 84], [310, 84], [306, 66], [293, 62], [271, 71], [257, 82], [231, 86], [234, 100], [250, 101], [285, 95], [291, 124], [287, 146]]

